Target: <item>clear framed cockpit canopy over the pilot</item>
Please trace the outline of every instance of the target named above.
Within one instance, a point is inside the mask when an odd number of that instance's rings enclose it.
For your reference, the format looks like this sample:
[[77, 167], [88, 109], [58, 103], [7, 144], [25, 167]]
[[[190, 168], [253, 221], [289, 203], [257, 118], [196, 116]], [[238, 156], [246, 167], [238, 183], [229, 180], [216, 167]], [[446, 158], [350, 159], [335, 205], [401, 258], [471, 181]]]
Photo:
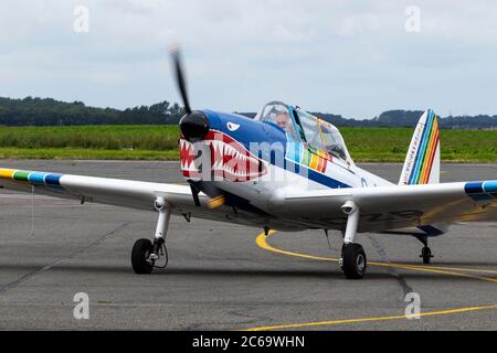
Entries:
[[294, 108], [282, 101], [271, 101], [264, 106], [255, 119], [282, 128], [286, 132], [288, 142], [300, 142], [314, 153], [324, 151], [349, 164], [352, 163], [338, 129], [298, 107]]

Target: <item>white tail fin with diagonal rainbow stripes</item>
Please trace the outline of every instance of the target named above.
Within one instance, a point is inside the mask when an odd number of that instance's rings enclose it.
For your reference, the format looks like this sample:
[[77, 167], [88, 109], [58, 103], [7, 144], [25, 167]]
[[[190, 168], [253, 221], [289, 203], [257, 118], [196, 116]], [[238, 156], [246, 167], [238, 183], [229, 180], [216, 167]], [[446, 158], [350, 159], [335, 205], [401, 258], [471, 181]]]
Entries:
[[440, 182], [438, 118], [426, 110], [420, 118], [405, 157], [399, 185]]

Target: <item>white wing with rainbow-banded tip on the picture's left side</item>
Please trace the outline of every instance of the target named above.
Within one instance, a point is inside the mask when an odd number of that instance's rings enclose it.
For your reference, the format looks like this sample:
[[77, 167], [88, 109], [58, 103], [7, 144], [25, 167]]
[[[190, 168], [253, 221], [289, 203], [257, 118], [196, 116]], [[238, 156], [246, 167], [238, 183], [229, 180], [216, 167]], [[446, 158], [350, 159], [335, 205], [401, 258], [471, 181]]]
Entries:
[[149, 211], [161, 196], [172, 214], [226, 221], [224, 206], [211, 208], [211, 200], [203, 193], [197, 206], [190, 186], [181, 184], [0, 169], [0, 189], [28, 193], [34, 189], [35, 194]]

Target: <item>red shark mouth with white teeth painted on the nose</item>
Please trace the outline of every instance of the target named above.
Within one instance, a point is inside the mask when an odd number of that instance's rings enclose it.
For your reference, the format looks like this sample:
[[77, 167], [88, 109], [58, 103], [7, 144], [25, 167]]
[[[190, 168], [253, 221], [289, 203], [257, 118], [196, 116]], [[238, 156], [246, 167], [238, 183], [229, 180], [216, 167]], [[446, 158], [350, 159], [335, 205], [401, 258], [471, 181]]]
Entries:
[[[203, 151], [210, 152], [210, 161], [202, 158]], [[211, 180], [242, 182], [267, 173], [266, 162], [229, 135], [215, 130], [210, 130], [198, 143], [180, 139], [180, 159], [183, 176], [191, 180], [210, 175]], [[210, 173], [203, 170], [204, 164], [210, 167]]]

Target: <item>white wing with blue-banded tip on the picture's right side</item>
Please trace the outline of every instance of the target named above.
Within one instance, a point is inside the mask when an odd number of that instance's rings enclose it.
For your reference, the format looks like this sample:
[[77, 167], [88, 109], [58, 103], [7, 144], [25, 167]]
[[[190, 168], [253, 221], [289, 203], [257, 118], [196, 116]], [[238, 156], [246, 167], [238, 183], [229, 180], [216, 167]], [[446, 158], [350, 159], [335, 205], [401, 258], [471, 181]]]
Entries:
[[359, 232], [415, 227], [441, 234], [433, 224], [497, 222], [497, 181], [350, 188], [317, 191], [286, 190], [273, 206], [308, 225], [343, 229], [340, 206], [348, 200], [360, 210]]

